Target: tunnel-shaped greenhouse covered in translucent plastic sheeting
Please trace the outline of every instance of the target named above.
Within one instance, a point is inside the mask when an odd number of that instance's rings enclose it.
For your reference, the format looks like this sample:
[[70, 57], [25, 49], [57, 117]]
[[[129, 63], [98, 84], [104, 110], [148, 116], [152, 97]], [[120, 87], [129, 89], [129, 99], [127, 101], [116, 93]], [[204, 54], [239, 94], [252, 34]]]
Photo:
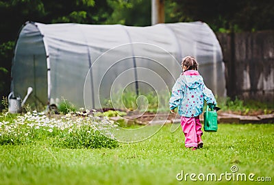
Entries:
[[32, 86], [28, 102], [36, 106], [66, 99], [77, 107], [102, 108], [105, 99], [125, 89], [170, 92], [184, 56], [197, 58], [206, 86], [225, 96], [221, 47], [206, 23], [129, 27], [27, 22], [16, 42], [11, 90], [24, 97]]

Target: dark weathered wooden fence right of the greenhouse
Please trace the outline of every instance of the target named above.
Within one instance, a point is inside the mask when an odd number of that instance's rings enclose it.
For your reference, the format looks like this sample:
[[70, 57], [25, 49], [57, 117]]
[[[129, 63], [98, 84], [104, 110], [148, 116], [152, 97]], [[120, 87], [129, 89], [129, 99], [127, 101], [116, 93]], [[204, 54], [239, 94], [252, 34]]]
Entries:
[[223, 49], [227, 96], [274, 103], [274, 30], [216, 36]]

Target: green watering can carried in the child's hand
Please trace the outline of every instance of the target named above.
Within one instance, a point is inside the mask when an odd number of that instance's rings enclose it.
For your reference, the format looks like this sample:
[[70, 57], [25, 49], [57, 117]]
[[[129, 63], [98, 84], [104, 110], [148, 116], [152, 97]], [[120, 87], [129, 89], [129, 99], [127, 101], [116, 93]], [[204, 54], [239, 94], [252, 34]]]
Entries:
[[220, 108], [206, 106], [206, 112], [203, 113], [203, 130], [205, 130], [205, 132], [217, 132], [217, 110], [220, 110]]

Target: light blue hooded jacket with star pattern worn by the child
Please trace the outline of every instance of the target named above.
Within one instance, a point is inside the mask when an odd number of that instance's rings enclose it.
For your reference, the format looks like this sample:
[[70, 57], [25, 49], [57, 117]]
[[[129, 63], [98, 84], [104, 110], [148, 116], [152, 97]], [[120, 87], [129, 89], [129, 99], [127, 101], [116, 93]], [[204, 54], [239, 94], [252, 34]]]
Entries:
[[203, 103], [216, 106], [212, 91], [203, 83], [198, 71], [188, 70], [176, 80], [169, 99], [170, 109], [178, 108], [180, 116], [194, 117], [203, 113]]

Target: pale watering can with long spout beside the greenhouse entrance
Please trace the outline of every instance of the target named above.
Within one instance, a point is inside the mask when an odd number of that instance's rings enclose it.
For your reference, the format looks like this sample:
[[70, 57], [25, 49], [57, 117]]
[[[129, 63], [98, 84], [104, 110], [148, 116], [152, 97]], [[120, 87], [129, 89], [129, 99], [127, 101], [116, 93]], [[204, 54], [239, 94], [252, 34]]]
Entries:
[[27, 101], [27, 98], [29, 97], [30, 93], [32, 93], [32, 87], [27, 88], [27, 95], [25, 98], [22, 99], [20, 97], [14, 97], [14, 93], [11, 92], [8, 96], [9, 106], [8, 110], [12, 114], [21, 113], [22, 107], [25, 105], [25, 101]]

